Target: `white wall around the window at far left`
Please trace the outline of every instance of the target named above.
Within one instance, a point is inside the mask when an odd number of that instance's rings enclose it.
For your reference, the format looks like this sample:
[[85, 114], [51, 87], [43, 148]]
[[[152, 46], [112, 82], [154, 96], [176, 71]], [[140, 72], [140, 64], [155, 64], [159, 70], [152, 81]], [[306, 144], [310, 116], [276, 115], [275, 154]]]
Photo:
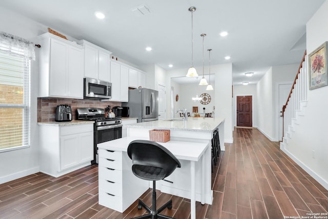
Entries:
[[[0, 7], [0, 30], [26, 39], [48, 32], [47, 27], [27, 17]], [[8, 22], [4, 22], [8, 21]], [[35, 48], [37, 52], [37, 48]], [[39, 171], [37, 93], [38, 63], [31, 61], [31, 146], [29, 148], [0, 153], [0, 184]]]

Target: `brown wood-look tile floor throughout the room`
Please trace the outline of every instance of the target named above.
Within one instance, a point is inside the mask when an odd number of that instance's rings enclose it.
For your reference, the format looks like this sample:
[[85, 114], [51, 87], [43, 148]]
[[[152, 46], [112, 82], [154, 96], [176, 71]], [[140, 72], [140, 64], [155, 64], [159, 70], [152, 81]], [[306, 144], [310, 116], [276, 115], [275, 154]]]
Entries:
[[[256, 129], [235, 128], [212, 174], [212, 205], [196, 204], [197, 218], [328, 218], [328, 191]], [[173, 209], [163, 214], [190, 218], [190, 200], [157, 191], [161, 206], [170, 198]], [[151, 204], [151, 190], [141, 196]], [[98, 205], [98, 167], [54, 178], [36, 173], [0, 185], [0, 218], [113, 218], [144, 213], [137, 202], [124, 213]], [[299, 217], [300, 218], [300, 217]]]

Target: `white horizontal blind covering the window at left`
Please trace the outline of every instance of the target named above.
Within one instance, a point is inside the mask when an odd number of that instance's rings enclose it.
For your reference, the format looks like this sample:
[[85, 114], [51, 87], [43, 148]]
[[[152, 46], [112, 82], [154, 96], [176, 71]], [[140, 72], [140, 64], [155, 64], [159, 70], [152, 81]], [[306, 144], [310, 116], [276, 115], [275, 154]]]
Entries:
[[30, 60], [0, 52], [0, 152], [30, 145]]

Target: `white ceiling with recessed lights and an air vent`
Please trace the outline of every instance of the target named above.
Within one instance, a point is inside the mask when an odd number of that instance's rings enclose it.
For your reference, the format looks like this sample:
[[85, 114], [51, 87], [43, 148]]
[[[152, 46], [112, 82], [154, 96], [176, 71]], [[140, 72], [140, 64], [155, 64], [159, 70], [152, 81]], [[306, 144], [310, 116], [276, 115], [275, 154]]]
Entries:
[[[0, 6], [64, 35], [86, 39], [137, 66], [156, 64], [170, 70], [173, 64], [173, 69], [186, 72], [191, 65], [188, 8], [194, 6], [194, 66], [202, 66], [200, 34], [206, 33], [204, 49], [212, 49], [211, 65], [231, 62], [234, 84], [240, 84], [246, 79], [256, 83], [270, 66], [300, 63], [306, 22], [324, 1], [1, 0]], [[151, 13], [136, 16], [132, 9], [144, 4]], [[103, 12], [105, 19], [97, 19], [95, 11]], [[219, 36], [221, 31], [229, 35]], [[153, 50], [146, 51], [147, 46]], [[255, 74], [246, 78], [245, 72]]]

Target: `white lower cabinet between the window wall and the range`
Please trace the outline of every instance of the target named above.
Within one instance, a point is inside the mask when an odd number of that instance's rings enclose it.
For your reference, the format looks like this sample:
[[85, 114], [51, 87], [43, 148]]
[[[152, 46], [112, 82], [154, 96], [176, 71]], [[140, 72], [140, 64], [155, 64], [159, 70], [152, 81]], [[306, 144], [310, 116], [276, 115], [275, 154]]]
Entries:
[[58, 177], [90, 165], [93, 124], [40, 125], [40, 172]]

